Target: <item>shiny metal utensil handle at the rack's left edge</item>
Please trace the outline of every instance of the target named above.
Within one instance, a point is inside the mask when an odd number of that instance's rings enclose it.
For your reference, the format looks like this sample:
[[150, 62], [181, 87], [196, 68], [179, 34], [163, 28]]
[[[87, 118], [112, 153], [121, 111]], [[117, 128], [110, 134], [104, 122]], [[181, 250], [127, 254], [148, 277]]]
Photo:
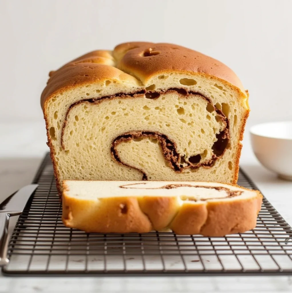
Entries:
[[7, 258], [9, 217], [10, 215], [7, 213], [0, 213], [0, 266], [9, 263], [9, 259]]

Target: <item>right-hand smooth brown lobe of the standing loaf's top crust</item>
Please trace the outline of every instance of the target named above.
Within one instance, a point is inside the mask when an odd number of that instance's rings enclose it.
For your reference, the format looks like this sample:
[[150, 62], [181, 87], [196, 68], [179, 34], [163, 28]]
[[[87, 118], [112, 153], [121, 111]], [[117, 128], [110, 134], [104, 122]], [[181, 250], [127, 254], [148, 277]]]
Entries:
[[[122, 47], [129, 47], [129, 44], [132, 43], [119, 45], [118, 50], [121, 50]], [[138, 44], [139, 47], [127, 50], [124, 56], [117, 61], [119, 68], [131, 72], [142, 81], [159, 72], [192, 72], [217, 77], [244, 92], [243, 85], [236, 74], [216, 59], [174, 44]]]

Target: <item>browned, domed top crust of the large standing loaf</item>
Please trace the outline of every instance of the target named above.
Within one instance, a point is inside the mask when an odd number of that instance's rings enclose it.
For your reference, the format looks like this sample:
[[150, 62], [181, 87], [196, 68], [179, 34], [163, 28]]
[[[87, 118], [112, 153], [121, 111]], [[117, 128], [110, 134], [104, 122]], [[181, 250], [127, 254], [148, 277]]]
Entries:
[[106, 79], [119, 78], [143, 87], [151, 76], [162, 72], [212, 76], [245, 94], [236, 74], [216, 59], [173, 44], [128, 42], [117, 45], [113, 51], [87, 53], [57, 71], [51, 71], [42, 92], [41, 105], [43, 108], [45, 100], [54, 93]]

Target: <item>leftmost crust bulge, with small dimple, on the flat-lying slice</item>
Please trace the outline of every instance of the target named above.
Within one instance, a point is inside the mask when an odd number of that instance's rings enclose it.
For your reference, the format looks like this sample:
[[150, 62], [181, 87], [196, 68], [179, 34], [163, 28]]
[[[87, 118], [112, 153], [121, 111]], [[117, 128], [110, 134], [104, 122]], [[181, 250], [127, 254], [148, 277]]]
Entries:
[[152, 228], [134, 197], [81, 201], [65, 195], [62, 219], [65, 226], [87, 233], [146, 233]]

